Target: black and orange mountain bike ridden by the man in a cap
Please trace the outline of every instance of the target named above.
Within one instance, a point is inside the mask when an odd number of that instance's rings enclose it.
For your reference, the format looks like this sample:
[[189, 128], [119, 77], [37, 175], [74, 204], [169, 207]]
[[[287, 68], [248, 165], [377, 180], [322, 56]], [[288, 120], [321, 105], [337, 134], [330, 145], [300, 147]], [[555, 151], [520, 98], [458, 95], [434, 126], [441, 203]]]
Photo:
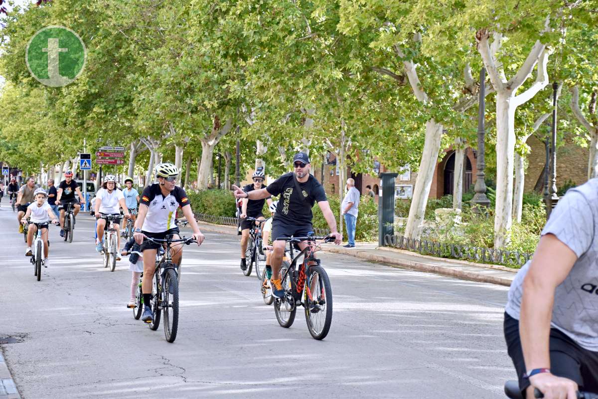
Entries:
[[[280, 279], [285, 291], [283, 298], [274, 298], [274, 313], [281, 327], [289, 328], [295, 321], [297, 305], [305, 309], [307, 329], [317, 340], [328, 335], [332, 324], [332, 287], [328, 274], [321, 266], [320, 260], [314, 256], [319, 246], [316, 240], [334, 241], [334, 237], [279, 237], [289, 243], [291, 263], [283, 262], [280, 267]], [[297, 256], [293, 256], [294, 244], [306, 242], [307, 246]], [[297, 268], [297, 261], [303, 255], [303, 262]]]

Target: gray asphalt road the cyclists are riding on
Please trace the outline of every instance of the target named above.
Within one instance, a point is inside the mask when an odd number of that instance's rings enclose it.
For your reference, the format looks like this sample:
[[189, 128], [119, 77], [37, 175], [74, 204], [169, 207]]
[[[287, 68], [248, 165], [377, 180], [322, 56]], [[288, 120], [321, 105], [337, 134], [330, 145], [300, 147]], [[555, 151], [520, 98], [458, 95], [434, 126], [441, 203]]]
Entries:
[[126, 258], [111, 273], [93, 219], [75, 239], [50, 231], [51, 264], [33, 276], [16, 214], [0, 208], [0, 337], [23, 398], [502, 398], [515, 376], [502, 336], [507, 288], [322, 254], [332, 328], [312, 339], [299, 310], [280, 327], [236, 236], [185, 247], [175, 343], [125, 305]]

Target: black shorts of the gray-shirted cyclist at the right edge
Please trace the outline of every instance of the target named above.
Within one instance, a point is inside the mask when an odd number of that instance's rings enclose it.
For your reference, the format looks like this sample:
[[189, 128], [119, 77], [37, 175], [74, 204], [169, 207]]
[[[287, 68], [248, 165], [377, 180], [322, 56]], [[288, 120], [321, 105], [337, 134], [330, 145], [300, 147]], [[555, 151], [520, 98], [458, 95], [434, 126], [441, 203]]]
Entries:
[[[519, 338], [519, 321], [506, 312], [504, 330], [509, 357], [515, 365], [519, 388], [525, 397], [525, 389], [529, 386], [529, 380], [523, 378], [523, 374], [527, 370]], [[580, 391], [598, 392], [598, 352], [581, 348], [556, 328], [550, 329], [548, 346], [552, 374], [575, 381], [579, 385]]]

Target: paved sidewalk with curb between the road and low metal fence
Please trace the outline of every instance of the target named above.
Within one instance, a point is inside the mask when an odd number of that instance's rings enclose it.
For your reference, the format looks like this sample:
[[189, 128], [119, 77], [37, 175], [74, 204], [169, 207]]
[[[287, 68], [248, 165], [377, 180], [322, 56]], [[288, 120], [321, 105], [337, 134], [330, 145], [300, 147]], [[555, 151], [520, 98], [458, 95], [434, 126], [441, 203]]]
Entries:
[[[236, 234], [233, 226], [199, 222], [202, 230], [224, 234]], [[518, 269], [493, 264], [472, 263], [468, 261], [437, 258], [420, 255], [401, 249], [379, 247], [377, 243], [357, 242], [355, 248], [343, 248], [331, 243], [322, 244], [322, 249], [335, 254], [351, 255], [356, 258], [388, 264], [392, 267], [405, 267], [419, 272], [437, 273], [444, 276], [492, 284], [511, 285]]]

